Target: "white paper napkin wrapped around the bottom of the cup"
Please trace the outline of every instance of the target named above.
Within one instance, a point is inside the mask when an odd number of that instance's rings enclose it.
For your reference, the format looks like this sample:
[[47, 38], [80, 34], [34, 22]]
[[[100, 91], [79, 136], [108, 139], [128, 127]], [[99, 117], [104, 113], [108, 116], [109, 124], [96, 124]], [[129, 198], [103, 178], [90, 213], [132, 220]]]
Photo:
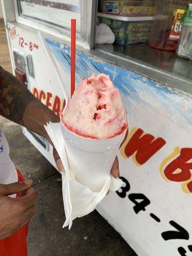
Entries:
[[92, 212], [109, 190], [118, 190], [122, 187], [123, 182], [121, 179], [115, 179], [109, 174], [103, 180], [103, 186], [99, 193], [92, 192], [90, 188], [77, 182], [73, 170], [70, 170], [65, 150], [65, 141], [61, 132], [61, 124], [50, 122], [47, 126], [45, 125], [45, 130], [49, 134], [65, 168], [65, 172], [61, 172], [63, 204], [66, 217], [63, 228], [68, 226], [68, 229], [70, 229], [74, 219]]

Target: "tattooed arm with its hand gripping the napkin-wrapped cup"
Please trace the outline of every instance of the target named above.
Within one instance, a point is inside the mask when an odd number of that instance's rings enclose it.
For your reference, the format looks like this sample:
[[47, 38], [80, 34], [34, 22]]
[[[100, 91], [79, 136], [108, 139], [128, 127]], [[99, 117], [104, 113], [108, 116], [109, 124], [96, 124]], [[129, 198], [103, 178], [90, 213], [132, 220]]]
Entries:
[[[36, 99], [16, 77], [2, 67], [0, 67], [0, 115], [44, 136], [49, 141], [44, 124], [49, 121], [60, 122], [60, 118], [51, 109]], [[63, 170], [55, 148], [53, 154], [58, 169]]]

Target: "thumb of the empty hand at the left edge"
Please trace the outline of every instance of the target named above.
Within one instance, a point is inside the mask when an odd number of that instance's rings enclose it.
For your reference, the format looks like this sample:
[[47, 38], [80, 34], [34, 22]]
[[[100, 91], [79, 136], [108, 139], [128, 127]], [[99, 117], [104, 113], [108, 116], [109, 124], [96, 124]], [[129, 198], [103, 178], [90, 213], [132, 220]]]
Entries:
[[24, 180], [23, 182], [0, 184], [0, 195], [13, 195], [25, 191], [31, 187], [32, 183], [33, 180]]

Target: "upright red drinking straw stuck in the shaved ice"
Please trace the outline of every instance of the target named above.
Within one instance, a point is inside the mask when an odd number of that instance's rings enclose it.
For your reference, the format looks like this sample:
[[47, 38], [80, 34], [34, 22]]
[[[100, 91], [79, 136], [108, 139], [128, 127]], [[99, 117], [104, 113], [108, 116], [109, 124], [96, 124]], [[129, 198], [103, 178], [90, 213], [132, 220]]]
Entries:
[[70, 33], [70, 96], [76, 90], [76, 19], [71, 19]]

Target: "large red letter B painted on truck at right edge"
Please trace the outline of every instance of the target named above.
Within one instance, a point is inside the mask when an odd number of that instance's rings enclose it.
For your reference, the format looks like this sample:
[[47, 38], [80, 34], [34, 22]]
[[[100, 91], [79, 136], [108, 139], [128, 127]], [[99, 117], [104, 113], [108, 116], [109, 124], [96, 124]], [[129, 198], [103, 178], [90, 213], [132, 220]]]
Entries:
[[[180, 155], [168, 164], [164, 170], [164, 175], [167, 179], [181, 182], [191, 178], [192, 163], [188, 163], [192, 159], [192, 148], [182, 148]], [[180, 172], [175, 172], [180, 170]], [[192, 191], [192, 183], [187, 185]]]

